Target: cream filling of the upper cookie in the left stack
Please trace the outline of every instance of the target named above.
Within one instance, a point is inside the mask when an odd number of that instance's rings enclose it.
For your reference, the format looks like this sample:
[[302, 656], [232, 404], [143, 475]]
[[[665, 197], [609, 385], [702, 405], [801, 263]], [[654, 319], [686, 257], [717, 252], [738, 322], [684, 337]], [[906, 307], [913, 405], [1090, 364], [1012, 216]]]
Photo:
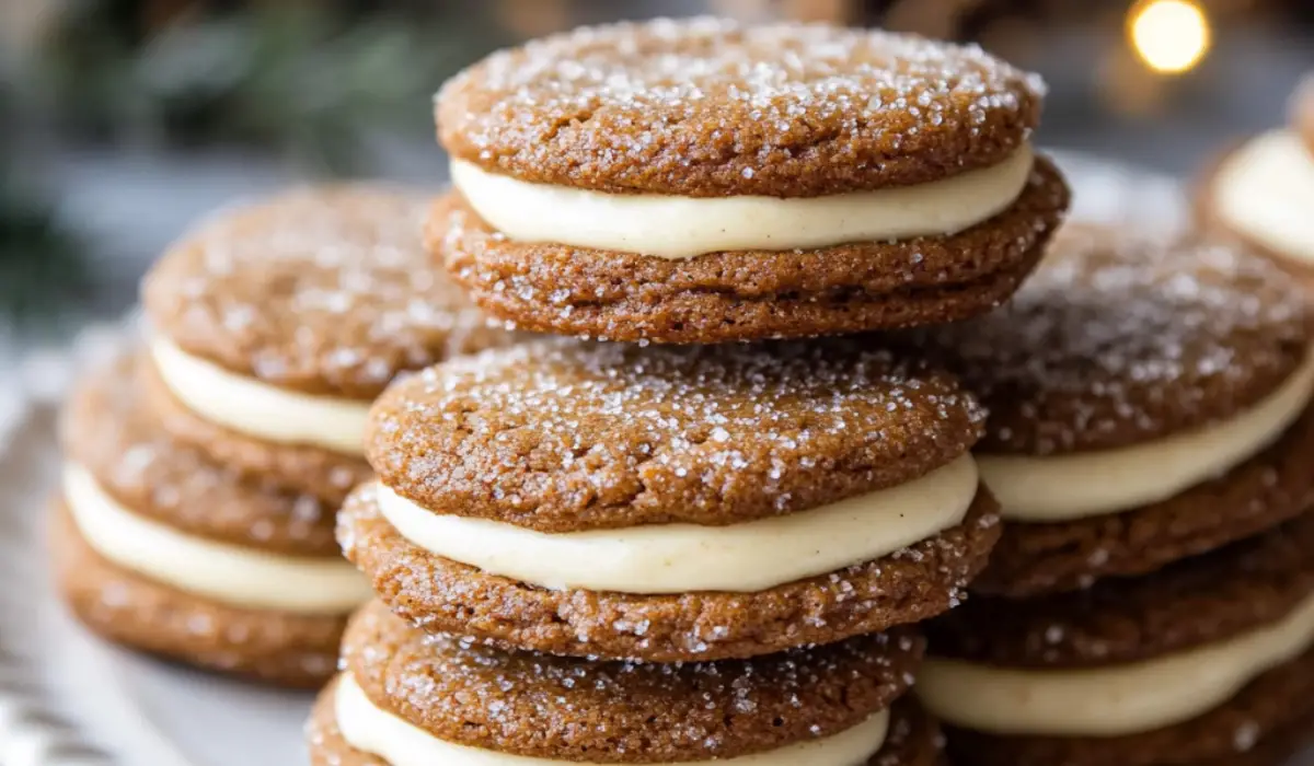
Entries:
[[151, 340], [160, 378], [198, 415], [283, 444], [364, 452], [369, 402], [290, 392], [223, 369], [162, 339]]

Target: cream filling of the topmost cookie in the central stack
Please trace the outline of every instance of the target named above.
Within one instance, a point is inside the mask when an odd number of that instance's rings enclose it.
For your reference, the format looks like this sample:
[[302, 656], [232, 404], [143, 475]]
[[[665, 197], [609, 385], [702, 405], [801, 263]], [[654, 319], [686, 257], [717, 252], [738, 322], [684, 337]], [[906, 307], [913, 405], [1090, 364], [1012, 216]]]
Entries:
[[452, 183], [515, 240], [683, 259], [954, 234], [1012, 205], [1033, 159], [1024, 146], [996, 166], [940, 181], [828, 197], [610, 194], [520, 181], [459, 159]]

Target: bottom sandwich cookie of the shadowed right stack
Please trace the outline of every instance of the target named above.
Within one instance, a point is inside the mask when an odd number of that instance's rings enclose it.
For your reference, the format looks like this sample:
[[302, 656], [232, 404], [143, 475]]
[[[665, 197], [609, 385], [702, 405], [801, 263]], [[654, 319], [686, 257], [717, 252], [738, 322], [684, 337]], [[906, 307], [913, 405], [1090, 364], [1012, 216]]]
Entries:
[[932, 623], [917, 681], [964, 766], [1285, 763], [1314, 738], [1314, 515], [1142, 578]]

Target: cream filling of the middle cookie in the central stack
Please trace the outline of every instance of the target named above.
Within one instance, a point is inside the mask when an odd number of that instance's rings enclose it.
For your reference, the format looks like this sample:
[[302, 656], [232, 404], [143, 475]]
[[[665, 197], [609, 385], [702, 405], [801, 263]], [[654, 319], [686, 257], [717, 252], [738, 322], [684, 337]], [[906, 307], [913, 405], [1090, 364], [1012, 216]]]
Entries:
[[435, 514], [384, 486], [378, 506], [415, 545], [540, 587], [753, 593], [872, 561], [955, 527], [978, 484], [976, 464], [963, 455], [908, 484], [786, 516], [556, 535]]

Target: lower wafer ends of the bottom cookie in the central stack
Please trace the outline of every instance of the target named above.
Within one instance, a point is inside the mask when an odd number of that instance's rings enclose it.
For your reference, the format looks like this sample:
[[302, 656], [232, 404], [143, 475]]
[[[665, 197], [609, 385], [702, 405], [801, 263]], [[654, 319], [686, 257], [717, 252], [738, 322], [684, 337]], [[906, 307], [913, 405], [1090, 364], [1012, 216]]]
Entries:
[[[315, 700], [306, 724], [310, 766], [388, 766], [382, 759], [353, 749], [342, 738], [334, 712], [336, 679]], [[890, 710], [886, 744], [866, 766], [945, 766], [940, 727], [908, 698]]]

